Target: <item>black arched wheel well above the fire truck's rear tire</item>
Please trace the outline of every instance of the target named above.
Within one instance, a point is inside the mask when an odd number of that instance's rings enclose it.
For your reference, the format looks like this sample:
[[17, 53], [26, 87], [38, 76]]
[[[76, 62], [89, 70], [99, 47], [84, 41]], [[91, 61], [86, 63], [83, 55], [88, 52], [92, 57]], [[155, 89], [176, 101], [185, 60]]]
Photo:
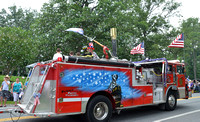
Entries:
[[[110, 93], [106, 92], [106, 91], [98, 91], [98, 92], [96, 92], [95, 94], [93, 94], [93, 95], [90, 97], [88, 103], [89, 103], [94, 97], [96, 97], [96, 96], [98, 96], [98, 95], [103, 95], [103, 96], [107, 97], [107, 98], [111, 101], [111, 103], [112, 103], [112, 108], [113, 108], [113, 110], [115, 109], [115, 101], [114, 101], [112, 95], [111, 95]], [[88, 104], [87, 104], [87, 106], [88, 106]], [[86, 108], [87, 108], [87, 107], [86, 107]]]

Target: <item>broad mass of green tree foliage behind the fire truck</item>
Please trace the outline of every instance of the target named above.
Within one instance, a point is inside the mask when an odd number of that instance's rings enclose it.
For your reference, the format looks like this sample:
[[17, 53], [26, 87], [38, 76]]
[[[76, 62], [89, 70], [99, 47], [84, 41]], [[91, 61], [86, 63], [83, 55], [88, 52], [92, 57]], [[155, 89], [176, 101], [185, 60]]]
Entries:
[[[145, 57], [183, 60], [182, 49], [167, 47], [178, 34], [186, 32], [186, 29], [179, 31], [169, 24], [170, 17], [178, 16], [179, 6], [173, 0], [73, 0], [72, 3], [50, 0], [43, 5], [40, 14], [17, 9], [16, 6], [9, 8], [10, 13], [2, 9], [1, 44], [13, 52], [5, 54], [3, 48], [0, 49], [0, 68], [12, 70], [19, 65], [24, 67], [36, 61], [52, 59], [56, 48], [61, 48], [65, 55], [70, 51], [79, 52], [89, 40], [65, 31], [72, 27], [83, 28], [85, 35], [95, 37], [110, 49], [110, 28], [117, 28], [117, 54], [120, 59], [141, 60], [140, 54], [130, 55], [130, 50], [144, 41]], [[188, 24], [184, 26], [187, 28]], [[186, 36], [188, 42], [191, 36], [198, 40], [196, 34]], [[12, 46], [8, 47], [5, 43]], [[102, 47], [97, 44], [94, 47], [102, 57]], [[191, 51], [190, 48], [186, 51]], [[198, 61], [199, 54], [196, 58]]]

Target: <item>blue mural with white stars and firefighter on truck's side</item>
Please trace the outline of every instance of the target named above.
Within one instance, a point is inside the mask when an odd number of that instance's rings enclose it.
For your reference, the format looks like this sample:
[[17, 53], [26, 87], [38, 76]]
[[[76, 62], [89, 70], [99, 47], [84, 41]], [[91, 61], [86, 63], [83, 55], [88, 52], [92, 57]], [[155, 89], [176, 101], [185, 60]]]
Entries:
[[130, 86], [130, 79], [126, 75], [126, 72], [96, 69], [67, 69], [63, 73], [61, 79], [62, 85], [77, 87], [77, 90], [80, 91], [97, 92], [110, 90], [113, 95], [119, 97], [119, 100], [138, 98], [143, 94], [141, 90]]

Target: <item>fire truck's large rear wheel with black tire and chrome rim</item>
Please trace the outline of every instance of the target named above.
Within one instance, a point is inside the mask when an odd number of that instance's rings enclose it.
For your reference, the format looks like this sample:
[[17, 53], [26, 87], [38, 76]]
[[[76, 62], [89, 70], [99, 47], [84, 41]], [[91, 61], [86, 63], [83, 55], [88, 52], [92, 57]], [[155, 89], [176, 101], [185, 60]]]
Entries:
[[112, 103], [103, 95], [96, 96], [88, 103], [85, 115], [88, 122], [108, 122], [112, 116]]

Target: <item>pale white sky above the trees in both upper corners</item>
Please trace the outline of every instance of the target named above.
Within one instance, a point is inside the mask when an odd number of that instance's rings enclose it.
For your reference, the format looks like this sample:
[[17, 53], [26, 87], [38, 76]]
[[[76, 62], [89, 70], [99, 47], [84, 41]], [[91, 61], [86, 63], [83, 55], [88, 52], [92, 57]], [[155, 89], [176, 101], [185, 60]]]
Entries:
[[[174, 17], [170, 19], [173, 26], [178, 27], [182, 20], [186, 20], [189, 17], [200, 18], [200, 0], [174, 0], [182, 3], [182, 6], [178, 9], [182, 17]], [[23, 9], [35, 9], [40, 11], [43, 3], [49, 2], [49, 0], [0, 0], [0, 10], [2, 8], [7, 9], [9, 6], [16, 5]]]

